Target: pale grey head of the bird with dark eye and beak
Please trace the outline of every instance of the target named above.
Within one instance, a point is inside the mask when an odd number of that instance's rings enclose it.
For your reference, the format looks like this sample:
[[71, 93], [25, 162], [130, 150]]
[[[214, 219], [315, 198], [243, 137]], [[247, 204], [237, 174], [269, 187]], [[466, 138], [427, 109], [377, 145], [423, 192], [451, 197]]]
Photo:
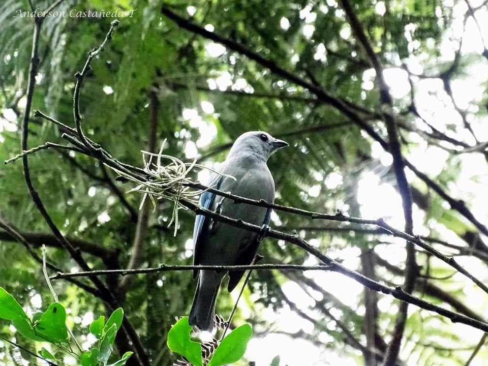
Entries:
[[240, 135], [235, 140], [229, 155], [249, 154], [267, 161], [271, 154], [278, 149], [288, 146], [288, 143], [272, 137], [262, 131], [250, 131]]

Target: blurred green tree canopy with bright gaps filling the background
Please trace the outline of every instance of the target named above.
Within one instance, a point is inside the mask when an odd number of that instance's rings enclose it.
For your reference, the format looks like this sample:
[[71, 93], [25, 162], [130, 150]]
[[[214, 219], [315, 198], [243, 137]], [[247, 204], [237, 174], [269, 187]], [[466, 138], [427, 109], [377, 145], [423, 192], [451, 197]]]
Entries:
[[[5, 0], [0, 24], [0, 286], [26, 316], [59, 302], [86, 351], [121, 307], [110, 362], [176, 362], [190, 270], [53, 279], [56, 300], [43, 256], [50, 276], [190, 265], [198, 206], [127, 176], [157, 182], [159, 153], [205, 185], [261, 130], [290, 146], [268, 161], [258, 265], [327, 270], [252, 271], [235, 364], [486, 363], [486, 1]], [[242, 284], [219, 293], [224, 323]], [[0, 365], [39, 361], [8, 341], [79, 361], [9, 324]]]

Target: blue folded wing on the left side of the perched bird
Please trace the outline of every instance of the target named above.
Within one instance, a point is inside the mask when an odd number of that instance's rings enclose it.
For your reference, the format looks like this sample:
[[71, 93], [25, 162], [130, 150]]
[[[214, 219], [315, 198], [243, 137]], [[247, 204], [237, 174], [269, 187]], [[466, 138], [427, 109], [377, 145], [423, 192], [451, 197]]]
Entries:
[[[222, 183], [222, 175], [217, 173], [212, 173], [210, 175], [209, 186], [215, 189], [219, 189]], [[211, 193], [206, 191], [200, 197], [200, 206], [206, 209], [211, 209], [212, 205], [214, 204], [215, 200], [215, 193]], [[208, 237], [208, 230], [210, 228], [210, 224], [212, 219], [208, 216], [204, 215], [197, 215], [195, 218], [195, 226], [193, 227], [193, 265], [201, 264], [201, 248], [202, 248], [202, 241], [206, 240]], [[193, 270], [193, 279], [197, 277], [198, 270]]]

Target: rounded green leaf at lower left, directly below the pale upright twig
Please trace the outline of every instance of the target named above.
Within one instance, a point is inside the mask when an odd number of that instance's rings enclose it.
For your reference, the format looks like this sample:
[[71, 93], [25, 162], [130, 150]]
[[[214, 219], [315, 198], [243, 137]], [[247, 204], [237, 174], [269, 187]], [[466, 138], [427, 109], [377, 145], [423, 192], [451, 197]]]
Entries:
[[68, 342], [66, 310], [59, 302], [53, 302], [34, 325], [36, 335], [51, 343]]

